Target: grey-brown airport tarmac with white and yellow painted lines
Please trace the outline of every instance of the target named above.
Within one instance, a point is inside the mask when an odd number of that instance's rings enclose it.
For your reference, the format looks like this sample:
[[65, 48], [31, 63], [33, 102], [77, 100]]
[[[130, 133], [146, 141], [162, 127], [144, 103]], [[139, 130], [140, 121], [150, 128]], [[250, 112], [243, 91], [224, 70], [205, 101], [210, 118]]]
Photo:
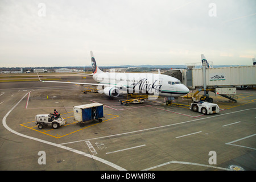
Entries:
[[[51, 77], [55, 77], [51, 75]], [[61, 81], [94, 82], [90, 76]], [[42, 78], [43, 79], [43, 78]], [[58, 80], [60, 81], [60, 80]], [[256, 92], [237, 89], [237, 103], [210, 93], [220, 113], [189, 110], [190, 99], [121, 105], [80, 85], [0, 83], [0, 170], [229, 171], [256, 169]], [[103, 122], [77, 125], [73, 106], [104, 104]], [[182, 105], [177, 105], [182, 104]], [[36, 114], [56, 109], [67, 125], [39, 130]]]

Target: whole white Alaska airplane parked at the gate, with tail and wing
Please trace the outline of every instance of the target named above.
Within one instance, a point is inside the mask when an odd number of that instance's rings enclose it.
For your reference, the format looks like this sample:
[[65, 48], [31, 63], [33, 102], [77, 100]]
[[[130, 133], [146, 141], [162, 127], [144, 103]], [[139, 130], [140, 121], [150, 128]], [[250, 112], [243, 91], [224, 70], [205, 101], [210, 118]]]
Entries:
[[[84, 74], [93, 76], [93, 80], [97, 84], [85, 82], [62, 82], [62, 81], [44, 81], [42, 82], [56, 82], [66, 84], [79, 85], [96, 85], [99, 93], [104, 93], [109, 97], [118, 97], [121, 92], [128, 93], [146, 93], [149, 96], [167, 97], [168, 100], [183, 96], [189, 93], [187, 86], [181, 83], [175, 77], [162, 75], [158, 73], [107, 73], [102, 72], [96, 64], [93, 52], [90, 51], [92, 62], [92, 74]], [[156, 99], [158, 97], [148, 97], [149, 99]]]

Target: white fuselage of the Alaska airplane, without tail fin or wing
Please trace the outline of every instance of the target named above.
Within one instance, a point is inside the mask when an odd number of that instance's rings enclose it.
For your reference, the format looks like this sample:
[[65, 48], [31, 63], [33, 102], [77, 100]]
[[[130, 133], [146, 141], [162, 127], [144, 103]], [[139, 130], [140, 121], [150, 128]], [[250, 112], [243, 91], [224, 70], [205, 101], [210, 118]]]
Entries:
[[129, 93], [147, 93], [162, 97], [179, 97], [187, 94], [187, 86], [174, 77], [157, 73], [96, 73], [93, 79], [109, 87]]

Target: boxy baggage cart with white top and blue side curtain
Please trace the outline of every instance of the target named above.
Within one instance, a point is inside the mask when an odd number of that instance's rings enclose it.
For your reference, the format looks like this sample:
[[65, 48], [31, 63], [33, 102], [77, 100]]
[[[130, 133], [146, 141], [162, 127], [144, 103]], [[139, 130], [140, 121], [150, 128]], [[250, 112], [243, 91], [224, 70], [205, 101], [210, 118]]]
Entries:
[[78, 121], [80, 127], [84, 127], [87, 121], [102, 122], [104, 118], [104, 105], [100, 103], [85, 104], [73, 107], [74, 120]]

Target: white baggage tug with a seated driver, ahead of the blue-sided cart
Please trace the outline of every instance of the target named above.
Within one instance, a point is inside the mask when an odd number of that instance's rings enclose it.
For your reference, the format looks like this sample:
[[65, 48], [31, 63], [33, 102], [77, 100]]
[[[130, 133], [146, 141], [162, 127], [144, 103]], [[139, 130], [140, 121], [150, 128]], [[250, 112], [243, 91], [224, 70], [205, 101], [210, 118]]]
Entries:
[[53, 129], [65, 125], [66, 121], [63, 117], [60, 117], [60, 113], [57, 114], [56, 118], [52, 119], [53, 114], [37, 114], [35, 116], [35, 124], [38, 125], [38, 128], [42, 130], [44, 126], [51, 125]]

